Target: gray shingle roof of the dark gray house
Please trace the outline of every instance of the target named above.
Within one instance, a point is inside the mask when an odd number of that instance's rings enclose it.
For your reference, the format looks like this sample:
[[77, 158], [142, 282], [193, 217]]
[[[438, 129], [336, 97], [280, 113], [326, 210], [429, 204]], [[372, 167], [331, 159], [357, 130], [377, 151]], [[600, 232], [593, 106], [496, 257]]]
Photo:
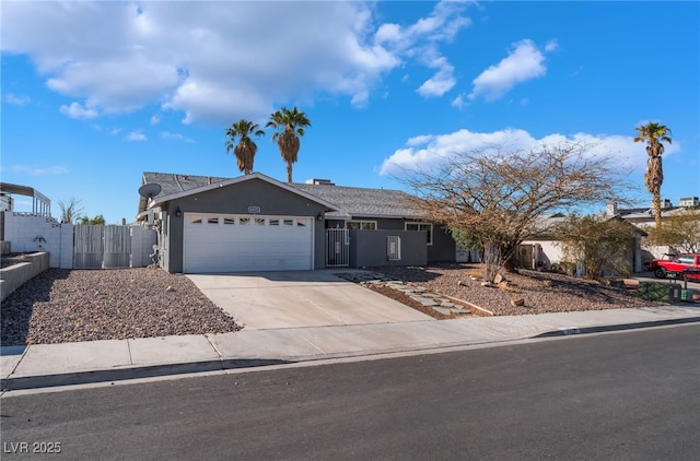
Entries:
[[[155, 199], [166, 196], [194, 190], [210, 185], [230, 181], [233, 178], [214, 176], [179, 175], [172, 173], [143, 173], [142, 184], [155, 182], [161, 186], [161, 191]], [[366, 189], [359, 187], [341, 187], [332, 185], [289, 185], [300, 192], [317, 197], [330, 202], [338, 211], [326, 213], [328, 218], [350, 217], [419, 217], [417, 208], [408, 203], [410, 196], [400, 190]], [[147, 199], [141, 197], [139, 212], [147, 209]]]

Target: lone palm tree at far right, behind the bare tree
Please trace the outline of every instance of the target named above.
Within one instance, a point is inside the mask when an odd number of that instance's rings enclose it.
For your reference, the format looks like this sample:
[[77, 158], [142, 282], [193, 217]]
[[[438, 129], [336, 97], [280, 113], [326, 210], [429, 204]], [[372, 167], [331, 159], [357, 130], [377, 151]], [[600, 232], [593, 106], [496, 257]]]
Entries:
[[635, 128], [639, 133], [634, 138], [634, 142], [646, 141], [646, 172], [644, 173], [644, 186], [652, 194], [652, 204], [654, 208], [654, 221], [656, 228], [661, 228], [661, 185], [664, 182], [664, 169], [662, 166], [661, 155], [664, 153], [664, 144], [666, 141], [670, 144], [670, 129], [664, 125], [649, 122]]

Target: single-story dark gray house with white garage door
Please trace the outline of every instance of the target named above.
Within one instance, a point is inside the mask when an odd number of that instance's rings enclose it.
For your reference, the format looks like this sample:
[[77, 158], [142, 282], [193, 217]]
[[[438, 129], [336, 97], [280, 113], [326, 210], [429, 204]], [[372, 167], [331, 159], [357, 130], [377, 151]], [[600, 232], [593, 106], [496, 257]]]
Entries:
[[137, 221], [159, 232], [168, 272], [313, 270], [455, 261], [456, 245], [406, 192], [144, 173]]

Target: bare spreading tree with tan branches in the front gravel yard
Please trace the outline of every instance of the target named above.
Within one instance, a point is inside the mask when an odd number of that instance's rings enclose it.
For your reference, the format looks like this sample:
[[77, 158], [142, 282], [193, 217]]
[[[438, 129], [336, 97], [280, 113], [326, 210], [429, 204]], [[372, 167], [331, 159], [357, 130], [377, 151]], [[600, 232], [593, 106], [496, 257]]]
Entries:
[[[508, 153], [485, 147], [405, 173], [398, 179], [412, 189], [427, 220], [479, 241], [485, 260], [506, 271], [515, 270], [518, 245], [546, 230], [542, 217], [623, 202], [627, 186], [610, 156], [578, 143]], [[488, 279], [492, 274], [487, 270]]]

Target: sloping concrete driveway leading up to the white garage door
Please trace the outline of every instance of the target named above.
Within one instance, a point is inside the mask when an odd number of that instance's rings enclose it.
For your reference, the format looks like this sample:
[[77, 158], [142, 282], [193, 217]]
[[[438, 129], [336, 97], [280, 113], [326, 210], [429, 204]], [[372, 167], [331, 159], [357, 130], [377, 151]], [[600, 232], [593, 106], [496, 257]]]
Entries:
[[330, 270], [189, 274], [247, 330], [432, 320]]

